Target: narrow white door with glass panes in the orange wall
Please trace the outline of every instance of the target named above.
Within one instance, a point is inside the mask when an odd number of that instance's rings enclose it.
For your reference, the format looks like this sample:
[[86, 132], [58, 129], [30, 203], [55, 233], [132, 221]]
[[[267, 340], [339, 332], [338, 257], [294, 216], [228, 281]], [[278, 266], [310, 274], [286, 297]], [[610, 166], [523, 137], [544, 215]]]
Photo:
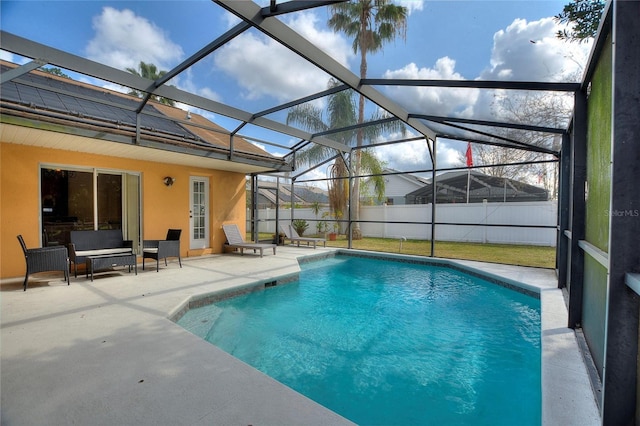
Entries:
[[189, 245], [191, 249], [209, 247], [209, 180], [191, 176], [189, 196]]

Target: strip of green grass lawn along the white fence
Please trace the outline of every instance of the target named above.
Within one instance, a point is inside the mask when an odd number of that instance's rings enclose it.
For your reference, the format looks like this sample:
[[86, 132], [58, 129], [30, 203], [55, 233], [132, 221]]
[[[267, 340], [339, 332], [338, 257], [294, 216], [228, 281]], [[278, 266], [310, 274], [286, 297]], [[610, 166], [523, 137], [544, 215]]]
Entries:
[[[314, 235], [305, 234], [305, 236], [313, 237]], [[265, 239], [271, 238], [266, 234], [261, 235], [261, 238], [263, 237]], [[348, 241], [344, 235], [339, 235], [336, 241], [327, 240], [327, 247], [347, 248], [347, 244]], [[403, 241], [402, 248], [400, 248], [400, 240], [397, 238], [363, 238], [362, 240], [354, 240], [353, 248], [418, 256], [431, 254], [431, 242], [424, 240]], [[436, 241], [435, 256], [550, 269], [555, 268], [556, 264], [555, 247], [544, 246]]]

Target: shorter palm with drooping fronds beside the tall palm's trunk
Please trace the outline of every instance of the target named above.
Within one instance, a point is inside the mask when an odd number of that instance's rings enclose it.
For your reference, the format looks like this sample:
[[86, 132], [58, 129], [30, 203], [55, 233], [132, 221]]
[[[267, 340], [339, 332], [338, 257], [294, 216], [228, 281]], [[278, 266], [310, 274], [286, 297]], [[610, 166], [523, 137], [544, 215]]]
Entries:
[[[333, 88], [339, 84], [338, 81], [331, 79], [329, 81], [329, 88]], [[326, 117], [325, 111], [314, 105], [296, 105], [287, 113], [287, 124], [295, 123], [315, 133], [353, 126], [357, 123], [353, 93], [352, 90], [343, 90], [330, 95], [328, 97]], [[371, 120], [380, 120], [385, 117], [376, 113], [371, 117]], [[364, 130], [345, 130], [338, 132], [333, 134], [333, 138], [347, 146], [353, 146], [358, 133], [362, 134], [363, 140], [374, 140], [384, 132], [393, 131], [399, 131], [404, 134], [405, 127], [401, 122], [394, 120], [367, 126]], [[372, 176], [371, 181], [373, 182], [374, 192], [377, 198], [382, 199], [384, 197], [384, 179], [379, 174], [382, 173], [384, 164], [378, 160], [371, 150], [360, 149], [357, 155], [360, 156], [360, 169], [369, 174], [377, 174], [377, 176]], [[296, 160], [300, 163], [311, 165], [335, 156], [336, 151], [333, 148], [316, 144], [309, 149], [299, 152]], [[330, 166], [329, 177], [329, 207], [334, 217], [342, 217], [347, 211], [349, 195], [349, 169], [342, 155], [339, 155]]]

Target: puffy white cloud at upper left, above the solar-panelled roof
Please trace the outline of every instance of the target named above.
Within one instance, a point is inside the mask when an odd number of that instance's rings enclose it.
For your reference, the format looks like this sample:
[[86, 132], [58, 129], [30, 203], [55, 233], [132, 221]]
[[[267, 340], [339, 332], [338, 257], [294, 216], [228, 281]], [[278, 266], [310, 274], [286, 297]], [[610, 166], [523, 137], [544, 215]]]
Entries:
[[93, 29], [87, 56], [115, 68], [137, 68], [143, 61], [163, 70], [183, 56], [182, 48], [161, 28], [128, 9], [104, 7], [93, 18]]

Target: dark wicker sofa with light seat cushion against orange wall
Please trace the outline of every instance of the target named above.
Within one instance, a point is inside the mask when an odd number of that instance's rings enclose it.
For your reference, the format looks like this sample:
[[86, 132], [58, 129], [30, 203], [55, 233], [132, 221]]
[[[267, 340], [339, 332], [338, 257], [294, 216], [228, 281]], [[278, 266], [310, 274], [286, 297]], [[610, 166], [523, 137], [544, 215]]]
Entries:
[[120, 229], [98, 231], [71, 231], [69, 262], [73, 263], [73, 274], [78, 276], [78, 263], [84, 263], [87, 256], [117, 255], [133, 252], [133, 241], [122, 238]]

